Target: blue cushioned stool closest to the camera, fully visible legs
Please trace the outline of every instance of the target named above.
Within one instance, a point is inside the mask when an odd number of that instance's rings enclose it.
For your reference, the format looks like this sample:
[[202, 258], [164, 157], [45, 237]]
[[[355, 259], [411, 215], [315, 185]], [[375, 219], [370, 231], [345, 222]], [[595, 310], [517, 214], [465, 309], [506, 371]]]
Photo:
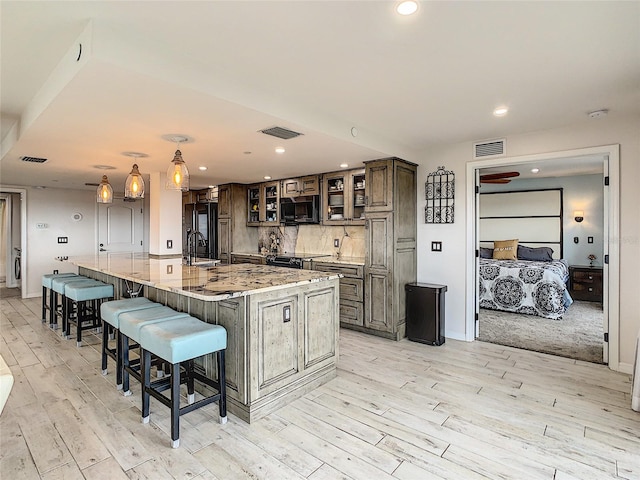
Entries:
[[[176, 320], [144, 325], [140, 329], [140, 361], [142, 370], [142, 422], [149, 422], [149, 395], [171, 409], [171, 446], [180, 445], [180, 415], [218, 401], [220, 423], [227, 422], [227, 397], [225, 388], [225, 359], [227, 331], [220, 325], [212, 325], [187, 316]], [[218, 380], [212, 380], [195, 371], [195, 358], [216, 353]], [[150, 380], [151, 354], [171, 364], [171, 377]], [[184, 374], [180, 364], [186, 363]], [[189, 405], [180, 408], [180, 383], [185, 377]], [[194, 380], [217, 390], [217, 394], [193, 402]], [[167, 398], [161, 392], [170, 389]]]

